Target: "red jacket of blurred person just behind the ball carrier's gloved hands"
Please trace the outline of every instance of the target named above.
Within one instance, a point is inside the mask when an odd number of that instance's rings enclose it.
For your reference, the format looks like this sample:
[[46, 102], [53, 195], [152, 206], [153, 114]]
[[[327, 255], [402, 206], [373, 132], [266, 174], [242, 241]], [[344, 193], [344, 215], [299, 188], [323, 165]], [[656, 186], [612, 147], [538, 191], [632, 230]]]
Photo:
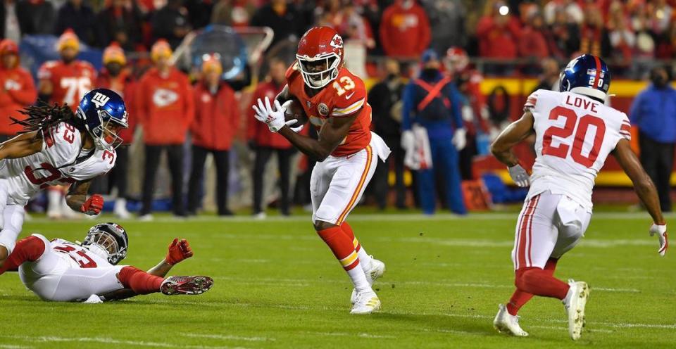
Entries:
[[[259, 98], [265, 99], [265, 96], [268, 96], [270, 101], [272, 101], [275, 96], [282, 91], [282, 87], [284, 87], [284, 85], [276, 85], [269, 81], [258, 84], [256, 91], [253, 91], [251, 105], [253, 106], [253, 103], [256, 103]], [[251, 106], [247, 110], [249, 110], [249, 114], [246, 118], [246, 139], [253, 141], [256, 146], [266, 146], [277, 149], [289, 149], [292, 147], [292, 144], [289, 143], [284, 136], [275, 132], [270, 132], [268, 125], [256, 120], [256, 118], [253, 117], [253, 108], [251, 108]]]

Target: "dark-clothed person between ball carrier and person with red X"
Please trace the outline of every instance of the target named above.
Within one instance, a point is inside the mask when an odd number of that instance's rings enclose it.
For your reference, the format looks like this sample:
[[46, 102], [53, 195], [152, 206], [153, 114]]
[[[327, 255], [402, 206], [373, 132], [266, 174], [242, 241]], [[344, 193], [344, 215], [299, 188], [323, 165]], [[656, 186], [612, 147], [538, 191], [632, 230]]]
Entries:
[[371, 106], [373, 131], [385, 141], [392, 150], [387, 161], [378, 164], [373, 174], [373, 193], [378, 208], [387, 206], [389, 193], [389, 170], [394, 167], [394, 187], [396, 189], [396, 208], [406, 208], [406, 186], [403, 183], [403, 149], [401, 148], [401, 94], [404, 82], [399, 63], [394, 59], [384, 61], [384, 80], [375, 84], [368, 92]]

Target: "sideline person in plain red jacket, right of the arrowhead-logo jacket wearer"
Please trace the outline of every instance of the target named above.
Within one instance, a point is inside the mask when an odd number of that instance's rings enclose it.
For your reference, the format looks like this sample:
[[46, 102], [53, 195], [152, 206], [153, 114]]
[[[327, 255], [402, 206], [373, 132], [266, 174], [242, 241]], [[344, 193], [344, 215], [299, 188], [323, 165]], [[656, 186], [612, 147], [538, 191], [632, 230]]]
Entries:
[[218, 215], [229, 216], [227, 178], [230, 170], [230, 146], [239, 127], [239, 104], [234, 91], [221, 81], [223, 66], [217, 54], [202, 61], [202, 79], [194, 88], [195, 118], [192, 133], [192, 172], [188, 184], [188, 215], [199, 208], [199, 193], [204, 182], [204, 161], [208, 153], [216, 165], [216, 204]]

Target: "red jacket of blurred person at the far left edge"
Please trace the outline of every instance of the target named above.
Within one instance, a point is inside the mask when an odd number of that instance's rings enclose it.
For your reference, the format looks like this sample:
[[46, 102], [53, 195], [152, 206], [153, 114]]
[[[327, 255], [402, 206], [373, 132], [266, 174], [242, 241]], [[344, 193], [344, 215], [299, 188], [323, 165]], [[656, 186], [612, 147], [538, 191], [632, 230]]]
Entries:
[[30, 72], [17, 67], [0, 68], [0, 134], [13, 136], [21, 131], [20, 125], [11, 125], [10, 117], [23, 120], [17, 110], [30, 106], [37, 99], [37, 90]]

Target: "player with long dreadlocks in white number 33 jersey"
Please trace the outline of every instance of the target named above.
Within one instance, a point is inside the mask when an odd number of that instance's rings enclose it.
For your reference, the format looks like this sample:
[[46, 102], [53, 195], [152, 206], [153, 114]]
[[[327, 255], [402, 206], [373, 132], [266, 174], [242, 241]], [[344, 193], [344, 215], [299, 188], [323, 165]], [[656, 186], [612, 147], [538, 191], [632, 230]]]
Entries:
[[64, 106], [30, 106], [15, 120], [25, 132], [0, 144], [0, 265], [12, 253], [21, 232], [23, 207], [48, 186], [70, 184], [66, 203], [98, 215], [104, 199], [87, 198], [94, 177], [115, 166], [118, 132], [126, 128], [125, 103], [115, 92], [87, 92], [73, 111]]

